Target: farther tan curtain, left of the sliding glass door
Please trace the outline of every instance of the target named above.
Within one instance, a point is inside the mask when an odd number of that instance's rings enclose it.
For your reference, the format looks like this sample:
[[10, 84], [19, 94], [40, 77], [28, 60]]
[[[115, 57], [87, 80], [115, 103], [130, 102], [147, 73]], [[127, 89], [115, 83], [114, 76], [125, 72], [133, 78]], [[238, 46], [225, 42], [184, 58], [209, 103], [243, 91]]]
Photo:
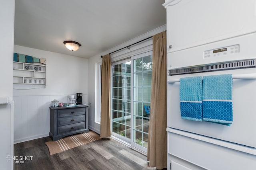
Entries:
[[101, 113], [100, 136], [110, 137], [110, 81], [111, 81], [110, 55], [102, 57], [101, 64]]

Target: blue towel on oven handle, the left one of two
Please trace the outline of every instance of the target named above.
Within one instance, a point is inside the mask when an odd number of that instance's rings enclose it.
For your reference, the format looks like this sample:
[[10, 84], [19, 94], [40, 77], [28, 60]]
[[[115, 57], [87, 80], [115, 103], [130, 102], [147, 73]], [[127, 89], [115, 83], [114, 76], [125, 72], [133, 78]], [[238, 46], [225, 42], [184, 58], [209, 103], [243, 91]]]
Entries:
[[182, 119], [202, 121], [202, 77], [180, 78]]

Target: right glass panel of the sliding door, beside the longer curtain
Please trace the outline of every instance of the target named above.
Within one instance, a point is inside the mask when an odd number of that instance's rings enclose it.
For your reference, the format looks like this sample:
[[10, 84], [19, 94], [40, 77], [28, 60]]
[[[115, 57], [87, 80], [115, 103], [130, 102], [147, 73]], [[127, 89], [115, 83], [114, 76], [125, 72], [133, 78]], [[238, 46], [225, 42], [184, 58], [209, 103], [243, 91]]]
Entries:
[[152, 51], [132, 57], [132, 143], [144, 152], [148, 148], [148, 128], [152, 80]]

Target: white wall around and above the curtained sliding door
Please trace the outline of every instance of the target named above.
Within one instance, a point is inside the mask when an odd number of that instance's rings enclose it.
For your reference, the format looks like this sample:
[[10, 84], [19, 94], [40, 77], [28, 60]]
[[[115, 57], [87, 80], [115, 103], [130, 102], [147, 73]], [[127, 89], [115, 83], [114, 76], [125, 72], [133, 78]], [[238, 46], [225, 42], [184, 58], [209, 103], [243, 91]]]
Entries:
[[[100, 57], [101, 55], [106, 55], [108, 53], [111, 53], [113, 51], [116, 51], [118, 49], [121, 49], [123, 47], [126, 47], [128, 45], [131, 45], [133, 43], [136, 43], [142, 39], [146, 39], [152, 35], [155, 35], [157, 33], [160, 33], [162, 31], [166, 30], [166, 25], [163, 25], [162, 27], [158, 27], [157, 29], [154, 29], [148, 33], [145, 33], [143, 35], [140, 35], [139, 37], [136, 37], [134, 39], [131, 39], [130, 41], [127, 41], [121, 45], [118, 45], [112, 49], [109, 49], [107, 51], [104, 51], [103, 53], [100, 53], [98, 55], [95, 55], [93, 57], [89, 58], [89, 70], [90, 70], [90, 74], [89, 74], [89, 84], [88, 84], [88, 88], [89, 88], [89, 93], [88, 93], [88, 102], [92, 103], [92, 107], [89, 107], [88, 112], [89, 112], [89, 122], [88, 122], [88, 127], [89, 129], [92, 129], [94, 131], [96, 131], [97, 133], [100, 133], [100, 124], [96, 123], [95, 120], [95, 87], [96, 87], [96, 81], [95, 81], [95, 66], [96, 63], [100, 63], [102, 61], [102, 58]], [[134, 46], [131, 46], [130, 49], [124, 49], [121, 51], [118, 51], [116, 53], [113, 53], [110, 57], [111, 57], [111, 62], [114, 61], [118, 61], [120, 59], [125, 59], [127, 57], [131, 57], [134, 55], [138, 55], [140, 53], [144, 53], [147, 52], [148, 50], [152, 49], [152, 39], [148, 39], [146, 41], [143, 41], [142, 43], [138, 43]]]

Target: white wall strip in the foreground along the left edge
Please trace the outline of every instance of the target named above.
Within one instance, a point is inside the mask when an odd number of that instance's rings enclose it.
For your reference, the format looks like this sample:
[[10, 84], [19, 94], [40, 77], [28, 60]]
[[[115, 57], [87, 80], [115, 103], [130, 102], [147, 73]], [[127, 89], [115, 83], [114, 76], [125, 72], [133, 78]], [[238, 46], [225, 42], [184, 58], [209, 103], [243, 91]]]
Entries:
[[1, 169], [12, 169], [13, 161], [13, 102], [12, 102], [12, 61], [14, 40], [14, 0], [0, 2], [0, 98], [8, 97], [9, 104], [0, 104], [0, 165]]

